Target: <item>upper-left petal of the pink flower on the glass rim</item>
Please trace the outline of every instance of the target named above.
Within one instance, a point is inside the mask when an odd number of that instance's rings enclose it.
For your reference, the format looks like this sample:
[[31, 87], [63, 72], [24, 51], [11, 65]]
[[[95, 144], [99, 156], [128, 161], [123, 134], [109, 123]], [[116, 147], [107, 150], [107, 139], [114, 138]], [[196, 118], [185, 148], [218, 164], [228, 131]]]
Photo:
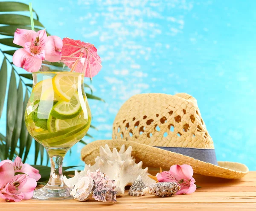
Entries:
[[33, 35], [36, 35], [36, 32], [33, 30], [16, 29], [13, 43], [19, 46], [24, 46], [26, 42], [32, 42]]

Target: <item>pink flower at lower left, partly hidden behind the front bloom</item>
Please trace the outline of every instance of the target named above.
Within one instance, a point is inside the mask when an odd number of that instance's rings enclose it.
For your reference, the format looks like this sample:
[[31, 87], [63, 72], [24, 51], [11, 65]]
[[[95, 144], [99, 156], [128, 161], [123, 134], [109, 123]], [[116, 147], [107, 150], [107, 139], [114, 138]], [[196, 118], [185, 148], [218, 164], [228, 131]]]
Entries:
[[29, 164], [23, 164], [21, 162], [20, 157], [16, 157], [15, 161], [12, 162], [11, 160], [3, 160], [0, 162], [0, 167], [4, 164], [4, 163], [10, 163], [13, 166], [14, 172], [22, 172], [22, 173], [26, 173], [30, 178], [35, 179], [36, 181], [38, 181], [41, 178], [41, 175], [39, 174], [39, 171], [35, 168], [33, 168], [31, 165]]

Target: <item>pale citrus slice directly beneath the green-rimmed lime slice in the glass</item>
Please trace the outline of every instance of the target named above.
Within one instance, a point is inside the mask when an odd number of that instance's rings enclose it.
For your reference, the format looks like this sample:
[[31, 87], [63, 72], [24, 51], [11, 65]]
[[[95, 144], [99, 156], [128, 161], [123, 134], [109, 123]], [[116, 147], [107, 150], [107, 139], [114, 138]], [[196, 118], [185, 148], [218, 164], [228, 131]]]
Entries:
[[64, 130], [69, 127], [76, 126], [78, 124], [87, 123], [88, 119], [84, 119], [84, 114], [81, 112], [78, 116], [72, 119], [56, 119], [55, 128], [56, 130]]

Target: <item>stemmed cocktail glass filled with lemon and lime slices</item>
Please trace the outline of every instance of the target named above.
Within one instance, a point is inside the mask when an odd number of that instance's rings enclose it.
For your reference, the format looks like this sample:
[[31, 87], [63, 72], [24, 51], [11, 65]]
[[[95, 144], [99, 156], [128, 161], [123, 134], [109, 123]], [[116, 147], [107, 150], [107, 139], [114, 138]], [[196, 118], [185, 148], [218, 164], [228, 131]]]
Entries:
[[83, 86], [86, 65], [87, 61], [78, 59], [74, 64], [78, 69], [71, 72], [43, 66], [33, 73], [25, 123], [30, 135], [46, 148], [51, 164], [47, 185], [34, 191], [33, 199], [73, 199], [63, 181], [62, 163], [70, 147], [90, 127], [91, 113]]

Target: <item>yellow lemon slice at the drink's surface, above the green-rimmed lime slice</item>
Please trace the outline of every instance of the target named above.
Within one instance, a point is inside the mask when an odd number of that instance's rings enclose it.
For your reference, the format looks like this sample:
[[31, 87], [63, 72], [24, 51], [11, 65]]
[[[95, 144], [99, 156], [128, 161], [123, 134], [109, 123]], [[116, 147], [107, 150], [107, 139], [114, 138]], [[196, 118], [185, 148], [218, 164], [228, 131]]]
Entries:
[[79, 75], [58, 73], [52, 78], [53, 89], [64, 101], [70, 101], [78, 88]]

